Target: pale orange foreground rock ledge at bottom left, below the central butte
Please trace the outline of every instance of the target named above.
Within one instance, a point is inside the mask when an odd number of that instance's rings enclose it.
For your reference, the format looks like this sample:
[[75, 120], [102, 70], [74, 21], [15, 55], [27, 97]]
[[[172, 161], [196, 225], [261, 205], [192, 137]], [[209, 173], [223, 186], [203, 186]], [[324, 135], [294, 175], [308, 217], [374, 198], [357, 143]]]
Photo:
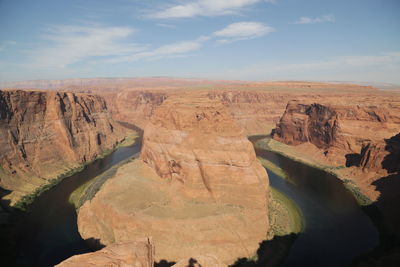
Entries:
[[154, 244], [148, 239], [137, 240], [124, 244], [112, 244], [99, 251], [73, 256], [57, 267], [153, 267]]

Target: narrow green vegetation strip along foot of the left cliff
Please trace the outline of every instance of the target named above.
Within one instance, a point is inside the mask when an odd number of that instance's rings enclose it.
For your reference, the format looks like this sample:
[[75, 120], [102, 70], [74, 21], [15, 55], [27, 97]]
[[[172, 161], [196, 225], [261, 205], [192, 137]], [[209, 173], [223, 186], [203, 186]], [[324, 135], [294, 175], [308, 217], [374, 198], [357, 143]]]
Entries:
[[[104, 157], [106, 157], [107, 155], [111, 154], [112, 152], [114, 152], [115, 150], [117, 150], [120, 147], [124, 147], [124, 146], [131, 146], [135, 143], [136, 139], [138, 138], [138, 134], [136, 132], [134, 132], [133, 134], [130, 134], [128, 136], [126, 136], [118, 145], [116, 145], [114, 148], [112, 149], [106, 149], [105, 151], [103, 151], [103, 153], [101, 153], [99, 156], [97, 156], [95, 159], [91, 160], [91, 161], [87, 161], [84, 164], [73, 168], [73, 169], [69, 169], [66, 172], [58, 175], [56, 178], [49, 180], [49, 182], [45, 185], [42, 185], [38, 188], [36, 188], [36, 190], [34, 192], [32, 192], [31, 194], [25, 195], [23, 196], [15, 205], [14, 207], [17, 209], [20, 209], [22, 211], [25, 211], [27, 209], [27, 207], [33, 203], [33, 201], [40, 196], [42, 193], [44, 193], [45, 191], [53, 188], [54, 186], [56, 186], [57, 184], [59, 184], [63, 179], [70, 177], [80, 171], [82, 171], [85, 166], [93, 163], [94, 161], [98, 160], [98, 159], [102, 159]], [[79, 188], [78, 188], [79, 189]]]

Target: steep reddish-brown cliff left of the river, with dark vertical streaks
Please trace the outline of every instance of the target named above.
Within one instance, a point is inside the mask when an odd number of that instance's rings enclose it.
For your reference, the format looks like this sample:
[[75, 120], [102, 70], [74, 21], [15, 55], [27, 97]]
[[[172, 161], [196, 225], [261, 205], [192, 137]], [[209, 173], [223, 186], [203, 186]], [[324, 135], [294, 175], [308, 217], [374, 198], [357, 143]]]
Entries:
[[0, 91], [0, 187], [22, 196], [113, 148], [123, 138], [103, 98]]

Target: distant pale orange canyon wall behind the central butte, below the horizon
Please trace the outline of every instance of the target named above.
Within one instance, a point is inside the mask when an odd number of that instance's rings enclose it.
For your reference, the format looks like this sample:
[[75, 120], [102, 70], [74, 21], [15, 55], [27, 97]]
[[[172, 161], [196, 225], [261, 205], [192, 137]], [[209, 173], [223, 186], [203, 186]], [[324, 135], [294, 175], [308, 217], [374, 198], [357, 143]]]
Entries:
[[114, 119], [133, 123], [142, 129], [155, 108], [168, 97], [184, 95], [189, 98], [206, 97], [218, 100], [227, 107], [247, 135], [270, 133], [290, 100], [319, 102], [325, 99], [339, 99], [346, 95], [362, 102], [379, 93], [367, 86], [312, 82], [226, 82], [224, 84], [215, 81], [214, 85], [206, 83], [203, 86], [209, 89], [193, 84], [178, 86], [173, 82], [168, 89], [161, 89], [159, 86], [153, 88], [120, 86], [119, 90], [112, 93], [101, 88], [91, 90], [106, 99]]

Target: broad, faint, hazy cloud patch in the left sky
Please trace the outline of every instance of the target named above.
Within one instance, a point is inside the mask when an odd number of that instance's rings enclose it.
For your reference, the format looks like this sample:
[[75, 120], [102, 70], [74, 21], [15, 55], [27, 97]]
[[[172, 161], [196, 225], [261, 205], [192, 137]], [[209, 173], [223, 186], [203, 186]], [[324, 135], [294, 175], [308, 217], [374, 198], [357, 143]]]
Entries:
[[135, 33], [130, 27], [58, 25], [48, 27], [40, 47], [29, 51], [38, 67], [64, 67], [92, 57], [128, 55], [143, 50], [123, 42]]

